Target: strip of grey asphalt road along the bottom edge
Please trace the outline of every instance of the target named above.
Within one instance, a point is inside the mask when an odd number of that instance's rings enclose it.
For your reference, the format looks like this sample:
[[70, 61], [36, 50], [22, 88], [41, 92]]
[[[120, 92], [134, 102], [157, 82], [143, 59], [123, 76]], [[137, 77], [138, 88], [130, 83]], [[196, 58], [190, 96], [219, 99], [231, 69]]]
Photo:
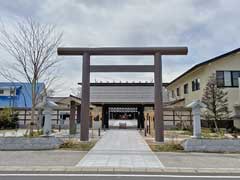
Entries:
[[15, 174], [0, 175], [0, 180], [230, 180], [240, 176], [177, 176], [177, 175], [74, 175], [74, 174]]

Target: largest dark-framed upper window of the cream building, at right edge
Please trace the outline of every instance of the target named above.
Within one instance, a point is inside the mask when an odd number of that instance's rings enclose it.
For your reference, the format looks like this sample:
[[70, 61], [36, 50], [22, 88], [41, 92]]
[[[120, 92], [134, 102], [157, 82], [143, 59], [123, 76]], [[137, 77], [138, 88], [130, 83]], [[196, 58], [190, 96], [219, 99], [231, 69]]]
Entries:
[[217, 71], [217, 87], [238, 87], [240, 71]]

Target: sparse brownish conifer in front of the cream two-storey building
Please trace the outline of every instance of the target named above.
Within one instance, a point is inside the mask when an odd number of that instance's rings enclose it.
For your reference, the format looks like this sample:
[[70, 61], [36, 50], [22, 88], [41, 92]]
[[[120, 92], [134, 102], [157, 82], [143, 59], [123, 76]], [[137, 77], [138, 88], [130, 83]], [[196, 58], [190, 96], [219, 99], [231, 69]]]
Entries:
[[207, 105], [204, 118], [213, 120], [217, 132], [219, 131], [217, 121], [229, 118], [227, 94], [228, 92], [217, 87], [216, 74], [212, 74], [204, 89], [202, 102]]

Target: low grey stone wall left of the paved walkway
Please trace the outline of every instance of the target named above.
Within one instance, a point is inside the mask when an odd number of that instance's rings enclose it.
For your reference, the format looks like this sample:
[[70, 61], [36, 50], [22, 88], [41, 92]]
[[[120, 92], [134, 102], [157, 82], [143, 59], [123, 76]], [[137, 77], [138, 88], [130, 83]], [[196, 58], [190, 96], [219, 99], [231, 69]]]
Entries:
[[62, 143], [55, 137], [1, 137], [0, 150], [49, 150], [59, 148]]

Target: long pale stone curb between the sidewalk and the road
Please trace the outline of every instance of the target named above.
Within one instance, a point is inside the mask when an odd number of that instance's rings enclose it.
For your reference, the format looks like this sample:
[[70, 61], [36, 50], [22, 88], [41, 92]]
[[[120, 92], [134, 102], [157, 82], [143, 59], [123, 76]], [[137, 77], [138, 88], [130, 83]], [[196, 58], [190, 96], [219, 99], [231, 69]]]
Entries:
[[190, 173], [190, 174], [240, 174], [240, 168], [89, 168], [74, 166], [0, 166], [0, 173]]

